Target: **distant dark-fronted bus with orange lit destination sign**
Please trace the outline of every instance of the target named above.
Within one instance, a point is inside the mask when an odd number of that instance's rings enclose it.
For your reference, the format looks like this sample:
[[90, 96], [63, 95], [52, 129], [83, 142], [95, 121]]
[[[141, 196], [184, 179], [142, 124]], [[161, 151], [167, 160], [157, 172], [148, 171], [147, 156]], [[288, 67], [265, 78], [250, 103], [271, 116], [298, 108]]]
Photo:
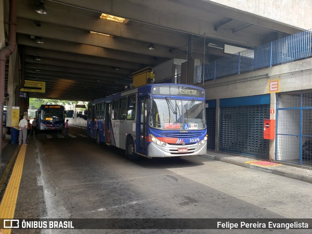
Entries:
[[60, 105], [41, 105], [36, 111], [38, 130], [59, 130], [64, 129], [65, 108]]

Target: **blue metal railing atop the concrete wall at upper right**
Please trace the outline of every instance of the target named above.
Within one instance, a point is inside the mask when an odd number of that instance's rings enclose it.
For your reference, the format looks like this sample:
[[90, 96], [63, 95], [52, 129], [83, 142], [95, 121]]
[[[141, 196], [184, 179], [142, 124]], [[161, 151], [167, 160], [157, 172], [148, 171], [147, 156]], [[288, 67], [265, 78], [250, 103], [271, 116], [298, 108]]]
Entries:
[[[213, 80], [226, 75], [250, 72], [280, 64], [294, 62], [312, 56], [312, 30], [257, 46], [236, 54], [230, 54], [195, 67], [195, 83]], [[205, 72], [203, 71], [205, 69]]]

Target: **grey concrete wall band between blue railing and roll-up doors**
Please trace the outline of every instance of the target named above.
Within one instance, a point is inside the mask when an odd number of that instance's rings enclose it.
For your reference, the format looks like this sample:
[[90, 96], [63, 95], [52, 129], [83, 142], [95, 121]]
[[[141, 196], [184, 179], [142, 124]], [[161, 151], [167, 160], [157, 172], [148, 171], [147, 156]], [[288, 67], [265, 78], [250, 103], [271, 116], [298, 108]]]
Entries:
[[[269, 81], [275, 79], [280, 80], [280, 92], [312, 89], [311, 64], [312, 58], [309, 58], [259, 71], [205, 81], [206, 99], [267, 94]], [[270, 77], [265, 77], [266, 74]]]

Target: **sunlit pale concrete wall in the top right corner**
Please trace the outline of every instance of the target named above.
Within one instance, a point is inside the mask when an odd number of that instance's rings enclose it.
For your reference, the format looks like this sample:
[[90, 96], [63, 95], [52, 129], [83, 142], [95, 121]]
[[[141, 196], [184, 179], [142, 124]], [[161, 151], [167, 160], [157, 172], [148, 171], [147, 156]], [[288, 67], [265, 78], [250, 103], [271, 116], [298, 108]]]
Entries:
[[312, 28], [311, 0], [203, 0], [283, 22], [302, 29]]

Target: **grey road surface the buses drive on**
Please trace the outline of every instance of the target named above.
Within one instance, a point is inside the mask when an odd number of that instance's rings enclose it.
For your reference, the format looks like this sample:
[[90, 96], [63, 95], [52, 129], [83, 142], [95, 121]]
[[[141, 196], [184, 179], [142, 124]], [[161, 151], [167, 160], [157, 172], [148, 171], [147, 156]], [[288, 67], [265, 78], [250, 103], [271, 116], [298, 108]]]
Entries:
[[[50, 218], [311, 218], [312, 184], [201, 156], [131, 162], [86, 130], [36, 137]], [[42, 179], [42, 180], [41, 180]], [[41, 183], [41, 182], [40, 182]], [[311, 231], [311, 230], [310, 230]], [[287, 230], [287, 233], [310, 233]], [[56, 230], [52, 233], [58, 233]], [[285, 230], [72, 230], [65, 233], [285, 233]]]

